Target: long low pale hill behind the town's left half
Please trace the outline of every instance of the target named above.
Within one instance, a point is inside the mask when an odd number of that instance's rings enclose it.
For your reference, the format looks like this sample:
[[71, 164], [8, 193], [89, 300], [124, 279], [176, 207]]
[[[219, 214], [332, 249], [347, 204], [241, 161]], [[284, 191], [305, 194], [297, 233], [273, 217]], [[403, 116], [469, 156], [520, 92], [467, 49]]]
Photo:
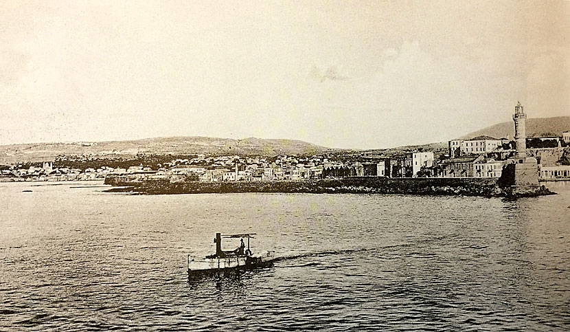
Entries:
[[144, 140], [36, 143], [0, 146], [0, 164], [41, 162], [57, 155], [92, 155], [93, 157], [129, 157], [137, 153], [160, 155], [313, 155], [338, 151], [299, 140], [243, 140], [215, 137], [156, 137]]

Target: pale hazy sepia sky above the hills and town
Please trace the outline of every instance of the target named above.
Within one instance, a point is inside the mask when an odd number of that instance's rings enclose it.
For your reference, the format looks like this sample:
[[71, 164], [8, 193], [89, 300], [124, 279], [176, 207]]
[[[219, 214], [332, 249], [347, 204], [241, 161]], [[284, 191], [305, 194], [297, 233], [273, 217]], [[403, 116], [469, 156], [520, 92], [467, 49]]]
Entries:
[[0, 0], [0, 145], [443, 142], [570, 115], [570, 1]]

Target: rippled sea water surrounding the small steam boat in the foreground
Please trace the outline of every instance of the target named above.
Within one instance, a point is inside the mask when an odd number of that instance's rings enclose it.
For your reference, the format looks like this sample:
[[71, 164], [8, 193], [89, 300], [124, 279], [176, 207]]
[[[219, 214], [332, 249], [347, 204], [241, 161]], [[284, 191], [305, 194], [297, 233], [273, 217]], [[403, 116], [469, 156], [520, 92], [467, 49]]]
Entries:
[[[0, 329], [570, 329], [570, 183], [518, 201], [86, 185], [0, 184]], [[216, 232], [283, 259], [189, 280]]]

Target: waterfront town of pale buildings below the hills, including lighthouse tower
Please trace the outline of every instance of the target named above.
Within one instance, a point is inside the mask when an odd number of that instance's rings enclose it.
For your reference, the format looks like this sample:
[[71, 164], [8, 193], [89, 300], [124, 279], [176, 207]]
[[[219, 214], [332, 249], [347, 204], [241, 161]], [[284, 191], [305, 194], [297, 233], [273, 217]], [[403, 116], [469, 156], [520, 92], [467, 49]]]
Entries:
[[[126, 175], [130, 179], [194, 181], [301, 181], [328, 177], [500, 178], [515, 157], [536, 159], [539, 181], [570, 180], [570, 131], [525, 134], [526, 115], [515, 107], [515, 136], [450, 140], [448, 148], [348, 151], [274, 157], [197, 154], [137, 155], [135, 159], [58, 156], [55, 161], [0, 166], [0, 181], [78, 181]], [[518, 128], [518, 129], [517, 129]], [[517, 131], [518, 130], [518, 131]], [[537, 167], [538, 166], [538, 167]]]

